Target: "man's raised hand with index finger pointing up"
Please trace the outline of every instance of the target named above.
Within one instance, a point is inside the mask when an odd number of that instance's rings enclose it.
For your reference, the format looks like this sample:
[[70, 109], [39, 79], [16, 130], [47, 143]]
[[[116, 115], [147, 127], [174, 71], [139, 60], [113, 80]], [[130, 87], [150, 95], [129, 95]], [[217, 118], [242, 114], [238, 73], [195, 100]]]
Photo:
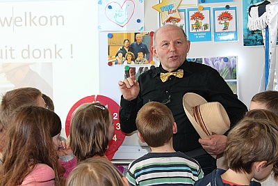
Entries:
[[122, 96], [125, 100], [134, 100], [140, 91], [139, 83], [136, 80], [135, 72], [132, 68], [129, 69], [129, 76], [124, 81], [119, 81], [118, 84], [122, 91]]

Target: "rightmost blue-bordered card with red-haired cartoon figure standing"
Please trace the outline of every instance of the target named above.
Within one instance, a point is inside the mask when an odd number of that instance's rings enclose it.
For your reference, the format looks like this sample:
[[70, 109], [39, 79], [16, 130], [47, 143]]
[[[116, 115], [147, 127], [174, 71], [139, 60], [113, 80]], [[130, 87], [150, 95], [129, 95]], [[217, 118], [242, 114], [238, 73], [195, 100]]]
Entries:
[[213, 8], [214, 42], [238, 41], [236, 6]]

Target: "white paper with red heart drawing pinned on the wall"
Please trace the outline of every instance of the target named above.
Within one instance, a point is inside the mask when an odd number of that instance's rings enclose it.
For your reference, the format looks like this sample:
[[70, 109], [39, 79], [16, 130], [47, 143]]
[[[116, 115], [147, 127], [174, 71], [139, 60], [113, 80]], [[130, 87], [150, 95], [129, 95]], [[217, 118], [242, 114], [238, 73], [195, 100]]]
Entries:
[[143, 31], [144, 0], [99, 0], [99, 31]]

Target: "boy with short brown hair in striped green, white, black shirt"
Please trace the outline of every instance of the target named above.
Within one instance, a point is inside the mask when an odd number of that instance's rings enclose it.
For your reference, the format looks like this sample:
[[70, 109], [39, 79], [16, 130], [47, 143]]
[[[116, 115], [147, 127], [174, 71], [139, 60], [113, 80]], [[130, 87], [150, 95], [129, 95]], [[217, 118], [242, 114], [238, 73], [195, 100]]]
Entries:
[[148, 102], [136, 118], [138, 137], [152, 152], [129, 164], [129, 185], [194, 185], [203, 177], [198, 162], [173, 148], [177, 124], [170, 109], [160, 102]]

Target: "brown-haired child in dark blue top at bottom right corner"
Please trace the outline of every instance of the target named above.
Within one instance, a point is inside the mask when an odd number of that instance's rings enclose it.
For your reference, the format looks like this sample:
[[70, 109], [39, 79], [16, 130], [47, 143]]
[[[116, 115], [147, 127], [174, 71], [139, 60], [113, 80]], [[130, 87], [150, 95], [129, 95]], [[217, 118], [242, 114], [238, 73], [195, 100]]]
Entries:
[[[266, 119], [243, 118], [228, 134], [227, 171], [215, 169], [195, 185], [252, 185], [270, 175], [278, 160], [278, 127]], [[266, 148], [267, 147], [267, 148]]]

